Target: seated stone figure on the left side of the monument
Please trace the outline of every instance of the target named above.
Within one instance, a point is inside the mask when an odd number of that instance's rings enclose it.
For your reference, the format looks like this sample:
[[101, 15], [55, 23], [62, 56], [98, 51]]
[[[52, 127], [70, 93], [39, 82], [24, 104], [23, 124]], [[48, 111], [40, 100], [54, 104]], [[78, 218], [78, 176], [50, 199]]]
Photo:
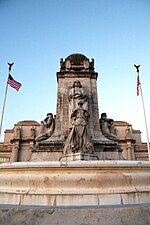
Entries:
[[52, 113], [48, 113], [46, 118], [41, 121], [41, 132], [35, 138], [35, 141], [38, 143], [40, 141], [44, 141], [51, 137], [55, 129], [55, 119], [53, 118]]

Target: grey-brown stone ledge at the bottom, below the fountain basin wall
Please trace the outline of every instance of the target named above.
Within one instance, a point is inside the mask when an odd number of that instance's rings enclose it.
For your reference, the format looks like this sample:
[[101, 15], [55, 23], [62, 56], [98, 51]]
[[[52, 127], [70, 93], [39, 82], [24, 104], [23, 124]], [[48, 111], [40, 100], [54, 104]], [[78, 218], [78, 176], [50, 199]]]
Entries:
[[0, 225], [149, 225], [150, 204], [112, 206], [0, 205]]

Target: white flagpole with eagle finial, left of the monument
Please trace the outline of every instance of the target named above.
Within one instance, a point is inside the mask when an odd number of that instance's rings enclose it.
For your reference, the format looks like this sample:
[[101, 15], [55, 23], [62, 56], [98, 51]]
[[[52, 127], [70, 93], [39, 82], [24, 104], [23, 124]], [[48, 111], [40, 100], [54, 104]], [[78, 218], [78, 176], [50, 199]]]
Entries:
[[5, 93], [4, 93], [4, 100], [3, 100], [3, 105], [2, 105], [2, 114], [1, 114], [1, 120], [0, 120], [0, 137], [1, 137], [1, 131], [2, 131], [2, 124], [3, 124], [7, 90], [8, 90], [8, 78], [9, 78], [9, 74], [10, 74], [11, 67], [13, 66], [13, 64], [14, 63], [8, 63], [8, 77], [7, 77], [7, 83], [6, 83]]

